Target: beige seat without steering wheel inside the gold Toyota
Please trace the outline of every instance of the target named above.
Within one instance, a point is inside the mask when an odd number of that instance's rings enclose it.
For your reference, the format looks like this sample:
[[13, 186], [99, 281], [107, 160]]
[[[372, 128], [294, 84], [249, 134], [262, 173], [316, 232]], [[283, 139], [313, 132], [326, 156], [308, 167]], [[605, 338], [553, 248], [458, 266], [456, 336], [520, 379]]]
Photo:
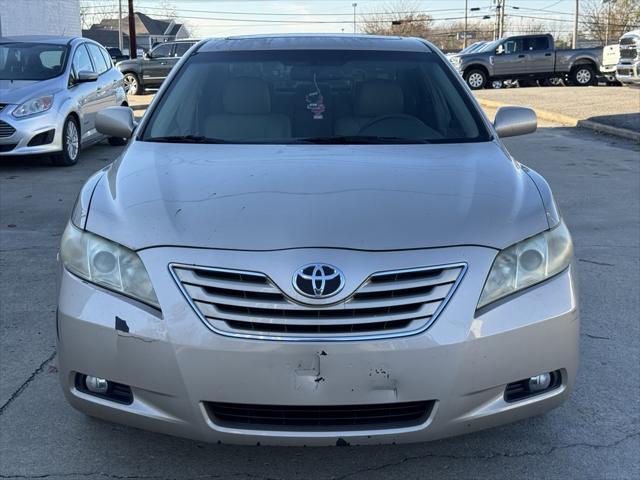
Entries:
[[271, 113], [271, 93], [261, 78], [229, 79], [222, 92], [222, 109], [223, 113], [210, 115], [204, 122], [205, 136], [238, 141], [291, 137], [289, 117]]

